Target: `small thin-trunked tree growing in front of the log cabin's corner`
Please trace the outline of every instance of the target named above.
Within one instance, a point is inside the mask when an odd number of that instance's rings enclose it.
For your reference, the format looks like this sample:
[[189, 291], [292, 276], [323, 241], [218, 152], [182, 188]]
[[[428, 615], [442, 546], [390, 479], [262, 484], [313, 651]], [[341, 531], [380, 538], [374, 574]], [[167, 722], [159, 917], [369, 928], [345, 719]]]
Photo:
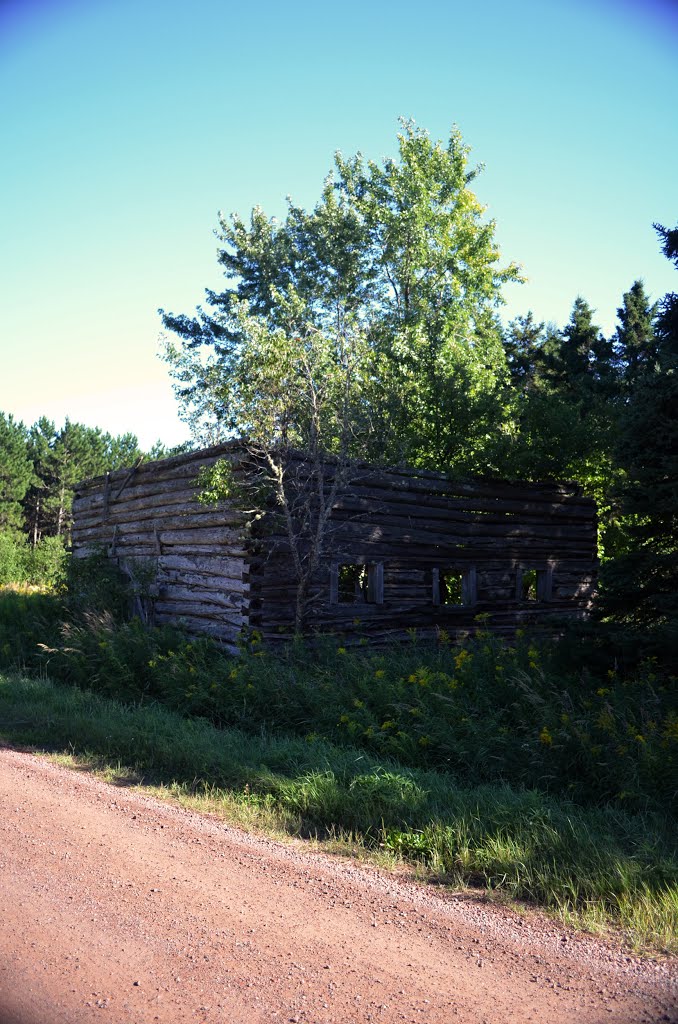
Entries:
[[[346, 313], [334, 329], [329, 324], [319, 329], [291, 288], [288, 298], [281, 298], [276, 326], [252, 315], [244, 302], [234, 304], [231, 316], [238, 318], [237, 349], [205, 360], [189, 347], [170, 345], [167, 358], [180, 385], [189, 385], [186, 415], [198, 436], [209, 439], [211, 418], [227, 410], [244, 439], [252, 511], [277, 514], [292, 557], [300, 632], [313, 600], [332, 506], [355, 476], [353, 459], [368, 426], [363, 409], [367, 345]], [[218, 500], [230, 493], [232, 474], [217, 463], [202, 485], [206, 497]]]

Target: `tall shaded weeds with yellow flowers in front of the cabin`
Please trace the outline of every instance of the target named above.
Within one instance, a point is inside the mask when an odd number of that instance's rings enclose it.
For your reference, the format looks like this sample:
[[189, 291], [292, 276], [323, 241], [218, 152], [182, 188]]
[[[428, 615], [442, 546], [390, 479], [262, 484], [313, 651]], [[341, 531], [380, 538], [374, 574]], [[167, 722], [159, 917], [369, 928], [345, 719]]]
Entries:
[[48, 673], [131, 702], [155, 700], [218, 726], [282, 730], [377, 758], [628, 810], [678, 808], [678, 687], [646, 662], [594, 675], [557, 651], [482, 629], [465, 645], [386, 650], [326, 638], [239, 657], [176, 629], [71, 616], [44, 596], [0, 593], [0, 667]]

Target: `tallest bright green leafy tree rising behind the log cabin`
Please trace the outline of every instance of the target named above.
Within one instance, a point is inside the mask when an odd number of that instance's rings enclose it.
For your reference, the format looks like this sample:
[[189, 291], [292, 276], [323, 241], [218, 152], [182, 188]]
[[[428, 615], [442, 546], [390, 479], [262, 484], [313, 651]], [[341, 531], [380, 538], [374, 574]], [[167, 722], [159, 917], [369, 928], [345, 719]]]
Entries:
[[[337, 158], [337, 186], [367, 230], [365, 285], [380, 356], [387, 457], [486, 471], [504, 419], [508, 374], [496, 310], [502, 287], [495, 222], [470, 185], [469, 148], [402, 122], [398, 160]], [[385, 414], [385, 415], [384, 415]]]

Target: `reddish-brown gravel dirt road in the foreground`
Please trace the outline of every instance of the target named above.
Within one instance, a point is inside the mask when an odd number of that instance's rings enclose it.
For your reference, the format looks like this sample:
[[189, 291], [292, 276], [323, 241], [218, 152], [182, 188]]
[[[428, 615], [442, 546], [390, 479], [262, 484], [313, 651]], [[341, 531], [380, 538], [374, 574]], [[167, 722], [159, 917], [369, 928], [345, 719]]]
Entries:
[[675, 962], [0, 751], [1, 1024], [678, 1020]]

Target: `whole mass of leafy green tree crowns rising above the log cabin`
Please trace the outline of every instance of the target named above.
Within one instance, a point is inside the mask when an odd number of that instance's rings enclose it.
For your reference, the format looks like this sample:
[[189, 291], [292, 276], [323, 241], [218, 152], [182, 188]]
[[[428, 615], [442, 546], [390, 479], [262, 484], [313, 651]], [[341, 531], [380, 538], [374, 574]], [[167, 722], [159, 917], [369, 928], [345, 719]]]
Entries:
[[457, 129], [446, 146], [402, 122], [397, 160], [337, 155], [312, 211], [221, 218], [235, 284], [209, 313], [163, 314], [197, 435], [486, 470], [506, 380], [494, 310], [519, 274], [499, 266], [468, 156]]

